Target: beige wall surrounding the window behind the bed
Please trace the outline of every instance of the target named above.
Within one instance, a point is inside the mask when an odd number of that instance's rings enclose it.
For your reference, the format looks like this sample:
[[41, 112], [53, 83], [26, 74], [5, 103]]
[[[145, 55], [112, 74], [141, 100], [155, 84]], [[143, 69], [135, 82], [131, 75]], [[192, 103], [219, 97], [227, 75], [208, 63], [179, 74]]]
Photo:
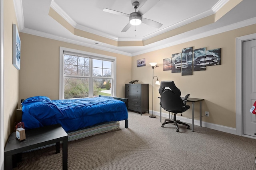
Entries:
[[116, 57], [116, 96], [124, 98], [124, 82], [131, 80], [132, 57], [20, 33], [22, 41], [19, 99], [48, 96], [59, 99], [60, 47]]

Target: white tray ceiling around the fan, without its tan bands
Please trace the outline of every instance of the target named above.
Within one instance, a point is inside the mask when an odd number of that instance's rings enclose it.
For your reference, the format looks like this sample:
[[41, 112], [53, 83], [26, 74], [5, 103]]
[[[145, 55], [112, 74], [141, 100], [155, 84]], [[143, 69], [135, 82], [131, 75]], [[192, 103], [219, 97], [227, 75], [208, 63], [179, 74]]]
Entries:
[[[72, 34], [48, 15], [50, 7], [66, 18], [73, 27], [115, 41], [143, 41], [179, 26], [210, 16], [228, 0], [159, 0], [143, 18], [162, 23], [160, 29], [144, 23], [122, 33], [129, 18], [104, 12], [104, 8], [126, 14], [135, 12], [135, 0], [14, 0], [20, 32], [66, 41], [124, 55], [138, 55], [184, 41], [256, 23], [256, 0], [243, 0], [220, 20], [142, 47], [117, 47]], [[138, 0], [140, 7], [157, 0]], [[135, 31], [136, 29], [136, 31]], [[94, 42], [100, 43], [95, 45]]]

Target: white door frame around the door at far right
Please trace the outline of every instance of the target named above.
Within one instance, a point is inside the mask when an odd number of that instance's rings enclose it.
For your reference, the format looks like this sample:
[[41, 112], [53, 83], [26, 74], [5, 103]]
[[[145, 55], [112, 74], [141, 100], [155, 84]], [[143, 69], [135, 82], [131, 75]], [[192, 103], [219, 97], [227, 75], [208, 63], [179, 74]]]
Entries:
[[243, 134], [243, 42], [256, 39], [256, 33], [236, 38], [236, 135], [252, 139]]

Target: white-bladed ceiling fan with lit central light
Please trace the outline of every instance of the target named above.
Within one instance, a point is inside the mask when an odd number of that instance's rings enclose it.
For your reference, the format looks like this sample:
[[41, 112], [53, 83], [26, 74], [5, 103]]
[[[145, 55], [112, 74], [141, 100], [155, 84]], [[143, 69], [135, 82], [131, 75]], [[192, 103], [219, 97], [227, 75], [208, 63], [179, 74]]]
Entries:
[[135, 1], [132, 3], [132, 7], [135, 9], [135, 12], [132, 12], [131, 14], [125, 14], [123, 12], [110, 10], [108, 8], [104, 8], [104, 12], [109, 12], [116, 15], [126, 16], [129, 17], [129, 23], [124, 27], [124, 29], [121, 32], [126, 32], [132, 25], [140, 25], [140, 23], [145, 23], [147, 25], [150, 25], [152, 27], [160, 28], [163, 24], [149, 20], [147, 18], [142, 18], [142, 16], [148, 12], [159, 0], [149, 0], [151, 2], [146, 1], [142, 7], [140, 7], [140, 10], [137, 9], [140, 6], [140, 3], [138, 1]]

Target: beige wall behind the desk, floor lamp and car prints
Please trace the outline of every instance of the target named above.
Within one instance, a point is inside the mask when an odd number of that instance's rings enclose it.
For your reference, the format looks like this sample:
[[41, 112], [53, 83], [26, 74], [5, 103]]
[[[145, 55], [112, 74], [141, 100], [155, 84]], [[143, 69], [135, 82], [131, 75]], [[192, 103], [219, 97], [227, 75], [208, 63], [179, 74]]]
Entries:
[[[154, 76], [160, 81], [173, 80], [182, 92], [182, 96], [190, 94], [191, 98], [203, 98], [202, 115], [209, 111], [209, 117], [202, 117], [202, 121], [236, 127], [236, 37], [256, 33], [256, 25], [212, 35], [210, 37], [174, 45], [150, 53], [132, 57], [132, 79], [140, 83], [149, 83], [149, 104], [152, 109], [152, 67], [150, 62], [157, 62]], [[181, 76], [181, 73], [163, 71], [163, 59], [170, 58], [172, 54], [181, 53], [183, 48], [193, 47], [206, 50], [221, 48], [221, 65], [208, 66], [206, 71], [193, 72], [191, 76]], [[146, 59], [146, 66], [137, 67], [138, 59]], [[154, 79], [154, 82], [156, 79]], [[154, 111], [160, 111], [158, 89], [154, 84]], [[189, 103], [188, 103], [189, 104]], [[191, 104], [190, 104], [191, 106]], [[165, 111], [163, 111], [165, 112]], [[166, 112], [165, 112], [166, 113]], [[186, 111], [184, 117], [191, 117], [192, 109]], [[195, 116], [199, 116], [199, 104], [195, 104]], [[196, 118], [199, 120], [199, 118]]]

